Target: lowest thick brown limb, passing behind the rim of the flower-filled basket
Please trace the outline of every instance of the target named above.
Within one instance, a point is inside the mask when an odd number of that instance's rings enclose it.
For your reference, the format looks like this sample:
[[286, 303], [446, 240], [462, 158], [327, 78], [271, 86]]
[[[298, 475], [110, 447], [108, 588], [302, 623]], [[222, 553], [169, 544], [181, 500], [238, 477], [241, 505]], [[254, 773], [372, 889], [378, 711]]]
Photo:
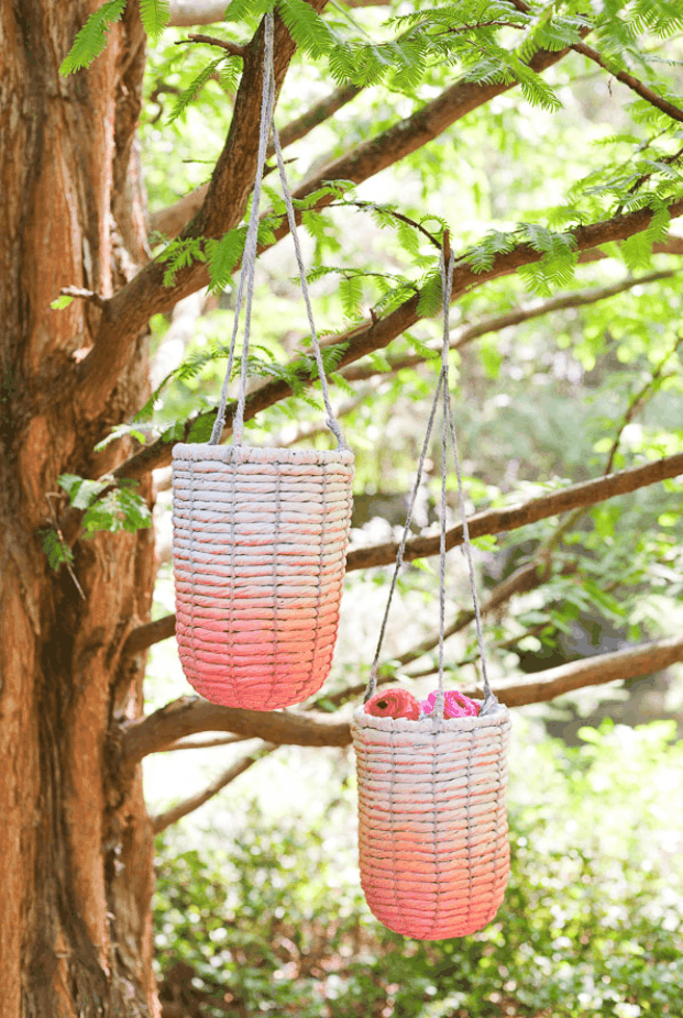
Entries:
[[[546, 702], [585, 686], [648, 675], [679, 661], [683, 661], [683, 637], [671, 637], [610, 654], [596, 654], [526, 678], [496, 683], [495, 693], [508, 707], [522, 707]], [[482, 696], [478, 688], [463, 691]], [[198, 697], [183, 697], [146, 718], [123, 726], [122, 761], [129, 765], [137, 763], [169, 742], [205, 731], [230, 731], [278, 745], [349, 745], [351, 742], [349, 721], [335, 720], [334, 716], [234, 710]]]

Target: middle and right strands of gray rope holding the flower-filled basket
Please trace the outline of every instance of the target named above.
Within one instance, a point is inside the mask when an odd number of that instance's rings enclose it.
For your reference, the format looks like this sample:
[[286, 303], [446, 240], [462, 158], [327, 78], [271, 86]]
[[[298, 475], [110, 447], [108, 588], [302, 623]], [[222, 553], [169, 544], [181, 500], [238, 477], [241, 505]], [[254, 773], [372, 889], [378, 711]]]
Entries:
[[[453, 458], [455, 461], [455, 476], [458, 478], [458, 498], [460, 501], [460, 514], [462, 518], [462, 536], [463, 552], [467, 560], [467, 571], [470, 574], [470, 590], [472, 591], [472, 602], [474, 605], [474, 620], [476, 626], [476, 640], [482, 660], [482, 676], [484, 682], [484, 704], [481, 713], [491, 713], [498, 706], [498, 700], [491, 688], [488, 675], [486, 672], [486, 653], [484, 651], [484, 634], [482, 631], [482, 616], [480, 612], [480, 600], [476, 593], [476, 583], [474, 578], [474, 563], [472, 561], [472, 542], [470, 541], [470, 528], [467, 525], [467, 511], [465, 509], [465, 496], [462, 486], [462, 474], [460, 469], [460, 455], [458, 452], [458, 439], [455, 436], [455, 421], [453, 419], [453, 408], [451, 406], [451, 394], [449, 391], [449, 347], [450, 347], [450, 309], [451, 292], [453, 286], [453, 262], [454, 255], [451, 253], [448, 269], [445, 267], [445, 257], [443, 252], [440, 256], [441, 268], [441, 296], [443, 301], [443, 340], [441, 344], [441, 373], [444, 377], [443, 387], [443, 432], [441, 449], [443, 464], [441, 468], [441, 588], [440, 588], [440, 618], [439, 618], [439, 693], [434, 712], [439, 706], [439, 700], [443, 700], [443, 641], [444, 641], [444, 617], [445, 617], [445, 462], [447, 462], [447, 434], [450, 431], [451, 445], [453, 446]], [[443, 711], [443, 705], [442, 705]], [[443, 713], [441, 715], [443, 716]]]

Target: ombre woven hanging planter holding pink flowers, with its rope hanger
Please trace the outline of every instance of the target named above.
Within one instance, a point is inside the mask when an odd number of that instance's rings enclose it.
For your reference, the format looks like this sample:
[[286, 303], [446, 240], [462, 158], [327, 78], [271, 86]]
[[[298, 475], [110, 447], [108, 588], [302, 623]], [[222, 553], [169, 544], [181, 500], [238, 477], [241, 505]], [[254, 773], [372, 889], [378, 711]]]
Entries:
[[[448, 247], [448, 234], [444, 247]], [[447, 261], [449, 264], [447, 270]], [[361, 884], [373, 914], [390, 930], [420, 940], [465, 937], [482, 929], [503, 901], [509, 873], [505, 794], [510, 720], [494, 695], [474, 583], [455, 427], [449, 392], [449, 305], [453, 258], [441, 255], [441, 373], [372, 663], [365, 706], [351, 733], [359, 789]], [[405, 689], [376, 693], [382, 642], [396, 589], [439, 401], [441, 541], [439, 689], [421, 705]], [[484, 700], [443, 688], [447, 451], [450, 435], [480, 649]], [[448, 710], [447, 710], [448, 697]]]

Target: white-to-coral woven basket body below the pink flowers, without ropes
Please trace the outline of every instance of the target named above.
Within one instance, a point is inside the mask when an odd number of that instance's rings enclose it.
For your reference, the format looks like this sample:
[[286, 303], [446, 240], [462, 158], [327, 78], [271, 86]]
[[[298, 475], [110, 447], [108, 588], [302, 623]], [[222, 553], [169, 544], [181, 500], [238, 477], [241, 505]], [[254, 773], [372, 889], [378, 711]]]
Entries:
[[509, 872], [509, 729], [504, 706], [444, 721], [354, 712], [361, 883], [390, 930], [442, 940], [494, 918]]

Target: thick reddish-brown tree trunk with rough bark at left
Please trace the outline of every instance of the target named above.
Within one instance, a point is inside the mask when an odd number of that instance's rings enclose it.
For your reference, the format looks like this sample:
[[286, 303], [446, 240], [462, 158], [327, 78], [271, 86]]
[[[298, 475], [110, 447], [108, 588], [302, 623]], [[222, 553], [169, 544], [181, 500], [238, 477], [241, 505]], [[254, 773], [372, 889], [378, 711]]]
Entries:
[[[92, 447], [147, 391], [146, 338], [97, 419], [74, 383], [97, 302], [53, 311], [62, 287], [104, 297], [144, 259], [134, 171], [144, 33], [128, 4], [106, 52], [58, 67], [99, 0], [0, 8], [0, 986], [3, 1018], [158, 1015], [151, 955], [153, 838], [136, 772], [108, 771], [108, 735], [142, 710], [151, 531], [99, 534], [48, 566], [41, 532], [65, 509], [64, 472], [97, 477], [126, 454]], [[141, 488], [151, 498], [151, 491]]]

